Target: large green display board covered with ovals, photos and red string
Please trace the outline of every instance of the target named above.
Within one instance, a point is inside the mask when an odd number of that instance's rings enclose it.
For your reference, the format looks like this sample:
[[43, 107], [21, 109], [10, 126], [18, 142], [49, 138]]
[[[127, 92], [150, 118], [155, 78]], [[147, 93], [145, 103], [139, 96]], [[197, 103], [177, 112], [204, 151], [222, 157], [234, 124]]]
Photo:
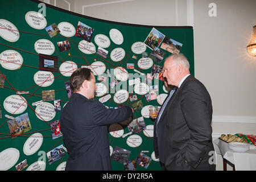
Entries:
[[96, 100], [135, 109], [134, 125], [109, 127], [111, 151], [123, 152], [113, 152], [113, 170], [132, 166], [126, 160], [138, 171], [161, 169], [148, 107], [167, 96], [161, 80], [166, 57], [183, 53], [194, 75], [192, 27], [110, 22], [39, 1], [10, 6], [3, 0], [0, 36], [0, 170], [64, 169], [68, 153], [59, 118], [71, 94], [69, 77], [81, 67], [96, 76]]

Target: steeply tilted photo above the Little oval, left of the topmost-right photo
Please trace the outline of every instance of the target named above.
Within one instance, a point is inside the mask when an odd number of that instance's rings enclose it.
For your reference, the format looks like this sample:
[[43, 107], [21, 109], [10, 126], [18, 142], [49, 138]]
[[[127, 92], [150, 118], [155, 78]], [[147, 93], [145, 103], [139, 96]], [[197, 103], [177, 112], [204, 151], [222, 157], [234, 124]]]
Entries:
[[164, 36], [161, 32], [156, 30], [155, 28], [152, 28], [150, 34], [148, 34], [146, 40], [144, 41], [144, 44], [148, 46], [151, 49], [154, 49], [155, 47], [158, 47], [162, 40], [164, 39]]

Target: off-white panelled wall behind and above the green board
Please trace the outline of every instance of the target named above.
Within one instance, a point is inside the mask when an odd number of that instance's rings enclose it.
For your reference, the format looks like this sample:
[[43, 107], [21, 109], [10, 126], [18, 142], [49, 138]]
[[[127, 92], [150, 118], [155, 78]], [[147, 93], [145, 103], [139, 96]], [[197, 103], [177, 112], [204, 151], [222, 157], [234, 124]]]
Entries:
[[[256, 134], [256, 57], [246, 51], [256, 25], [255, 0], [57, 0], [56, 4], [67, 9], [67, 2], [71, 11], [114, 22], [193, 26], [195, 77], [212, 97], [213, 139], [222, 133]], [[216, 17], [208, 14], [210, 3], [216, 4]], [[217, 159], [221, 170], [221, 157]]]

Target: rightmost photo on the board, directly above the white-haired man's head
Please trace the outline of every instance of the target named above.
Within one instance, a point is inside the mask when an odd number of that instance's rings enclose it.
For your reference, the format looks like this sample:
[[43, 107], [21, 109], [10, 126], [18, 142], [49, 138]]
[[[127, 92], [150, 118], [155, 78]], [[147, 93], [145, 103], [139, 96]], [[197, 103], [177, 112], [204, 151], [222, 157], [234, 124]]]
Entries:
[[160, 48], [178, 55], [182, 45], [183, 44], [177, 42], [176, 40], [170, 39], [166, 36]]

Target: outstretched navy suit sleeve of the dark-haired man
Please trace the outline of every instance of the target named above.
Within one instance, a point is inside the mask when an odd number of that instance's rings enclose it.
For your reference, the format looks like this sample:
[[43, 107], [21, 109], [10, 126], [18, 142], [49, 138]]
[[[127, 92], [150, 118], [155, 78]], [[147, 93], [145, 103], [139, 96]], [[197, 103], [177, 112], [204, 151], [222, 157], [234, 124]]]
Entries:
[[92, 121], [98, 125], [109, 125], [125, 121], [133, 115], [133, 110], [129, 106], [118, 109], [108, 109], [101, 102], [92, 102]]

